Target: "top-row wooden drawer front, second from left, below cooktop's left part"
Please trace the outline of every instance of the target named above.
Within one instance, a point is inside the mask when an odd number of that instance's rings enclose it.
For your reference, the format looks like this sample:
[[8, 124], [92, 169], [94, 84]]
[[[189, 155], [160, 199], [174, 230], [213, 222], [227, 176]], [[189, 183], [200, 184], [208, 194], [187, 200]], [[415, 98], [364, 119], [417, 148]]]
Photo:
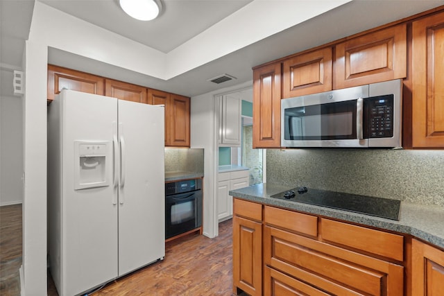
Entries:
[[264, 221], [268, 225], [289, 229], [309, 236], [318, 235], [318, 217], [275, 207], [265, 207]]

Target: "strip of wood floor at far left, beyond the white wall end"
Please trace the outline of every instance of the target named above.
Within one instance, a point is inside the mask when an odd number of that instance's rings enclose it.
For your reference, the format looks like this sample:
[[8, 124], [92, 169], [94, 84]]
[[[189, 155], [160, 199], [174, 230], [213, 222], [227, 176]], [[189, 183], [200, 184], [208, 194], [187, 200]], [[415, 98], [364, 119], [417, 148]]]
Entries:
[[22, 204], [0, 207], [0, 295], [20, 295]]

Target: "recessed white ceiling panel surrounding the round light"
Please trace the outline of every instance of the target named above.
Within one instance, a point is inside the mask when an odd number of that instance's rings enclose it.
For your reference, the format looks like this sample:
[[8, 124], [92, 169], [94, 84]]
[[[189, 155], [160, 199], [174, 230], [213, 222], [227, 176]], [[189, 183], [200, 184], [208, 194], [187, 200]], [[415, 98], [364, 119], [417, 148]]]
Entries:
[[40, 0], [153, 49], [168, 53], [252, 0], [162, 0], [162, 12], [152, 21], [128, 17], [118, 0]]

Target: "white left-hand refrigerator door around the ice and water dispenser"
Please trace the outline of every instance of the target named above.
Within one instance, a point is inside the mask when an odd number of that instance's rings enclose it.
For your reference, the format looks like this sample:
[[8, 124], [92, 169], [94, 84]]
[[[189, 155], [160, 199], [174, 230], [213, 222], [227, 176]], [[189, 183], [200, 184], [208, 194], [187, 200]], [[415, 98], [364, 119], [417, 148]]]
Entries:
[[[112, 178], [117, 99], [64, 91], [62, 98], [62, 295], [77, 295], [117, 277], [117, 199], [108, 186], [75, 189], [76, 141], [108, 143]], [[51, 182], [51, 180], [49, 180]]]

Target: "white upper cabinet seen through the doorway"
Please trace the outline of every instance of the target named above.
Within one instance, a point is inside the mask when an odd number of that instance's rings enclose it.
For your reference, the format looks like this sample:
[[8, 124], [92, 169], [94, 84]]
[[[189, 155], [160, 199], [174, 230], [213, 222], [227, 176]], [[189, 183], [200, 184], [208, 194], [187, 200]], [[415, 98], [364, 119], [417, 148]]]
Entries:
[[227, 94], [219, 98], [219, 145], [241, 145], [242, 102], [239, 96]]

